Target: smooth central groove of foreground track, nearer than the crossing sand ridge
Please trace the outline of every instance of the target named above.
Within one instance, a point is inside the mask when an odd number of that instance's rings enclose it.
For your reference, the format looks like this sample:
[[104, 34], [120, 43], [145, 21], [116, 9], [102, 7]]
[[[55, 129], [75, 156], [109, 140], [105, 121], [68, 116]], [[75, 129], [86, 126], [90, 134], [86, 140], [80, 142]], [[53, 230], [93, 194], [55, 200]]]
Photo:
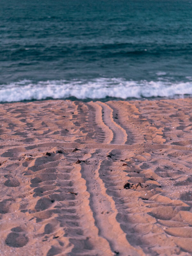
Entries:
[[[97, 154], [104, 152], [98, 150], [92, 153], [89, 160], [92, 163], [82, 164], [82, 177], [86, 180], [87, 190], [90, 193], [90, 207], [95, 219], [95, 225], [99, 229], [99, 235], [105, 238], [111, 248], [111, 254], [118, 252], [120, 255], [143, 255], [134, 249], [126, 240], [126, 235], [116, 221], [117, 210], [112, 197], [106, 193], [103, 180], [100, 178], [100, 165]], [[91, 166], [90, 166], [91, 164]], [[109, 254], [107, 254], [109, 255]]]

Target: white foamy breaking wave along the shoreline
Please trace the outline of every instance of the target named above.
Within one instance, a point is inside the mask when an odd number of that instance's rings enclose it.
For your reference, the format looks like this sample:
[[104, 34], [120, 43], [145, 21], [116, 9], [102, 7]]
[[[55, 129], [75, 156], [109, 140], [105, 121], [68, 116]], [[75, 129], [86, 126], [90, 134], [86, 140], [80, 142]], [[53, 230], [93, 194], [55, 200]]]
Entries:
[[105, 97], [183, 97], [192, 95], [192, 82], [126, 81], [122, 78], [99, 78], [92, 81], [52, 80], [33, 82], [23, 80], [0, 86], [0, 102], [43, 100], [46, 98], [103, 99]]

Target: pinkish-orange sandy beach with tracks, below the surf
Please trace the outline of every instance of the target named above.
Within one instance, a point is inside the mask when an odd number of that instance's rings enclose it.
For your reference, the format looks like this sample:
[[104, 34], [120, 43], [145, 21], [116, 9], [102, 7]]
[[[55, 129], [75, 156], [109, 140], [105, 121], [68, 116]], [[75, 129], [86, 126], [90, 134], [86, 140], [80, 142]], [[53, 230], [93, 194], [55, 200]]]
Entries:
[[191, 104], [1, 104], [0, 255], [192, 255]]

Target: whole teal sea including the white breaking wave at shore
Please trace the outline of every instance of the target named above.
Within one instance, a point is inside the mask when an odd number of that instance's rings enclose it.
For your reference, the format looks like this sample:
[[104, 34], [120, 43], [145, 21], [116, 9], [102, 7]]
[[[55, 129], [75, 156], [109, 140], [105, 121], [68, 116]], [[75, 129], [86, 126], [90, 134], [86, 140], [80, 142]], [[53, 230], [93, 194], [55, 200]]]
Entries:
[[192, 96], [192, 1], [1, 0], [0, 102]]

